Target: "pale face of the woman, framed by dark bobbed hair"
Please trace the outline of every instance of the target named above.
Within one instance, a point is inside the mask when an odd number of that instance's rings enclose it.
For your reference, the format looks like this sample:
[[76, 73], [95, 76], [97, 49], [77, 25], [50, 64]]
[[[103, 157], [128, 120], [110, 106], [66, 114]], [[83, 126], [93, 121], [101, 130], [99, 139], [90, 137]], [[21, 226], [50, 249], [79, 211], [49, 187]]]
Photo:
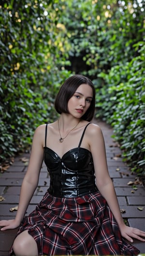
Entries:
[[68, 101], [69, 113], [76, 118], [81, 118], [89, 108], [92, 98], [92, 88], [87, 84], [81, 84]]

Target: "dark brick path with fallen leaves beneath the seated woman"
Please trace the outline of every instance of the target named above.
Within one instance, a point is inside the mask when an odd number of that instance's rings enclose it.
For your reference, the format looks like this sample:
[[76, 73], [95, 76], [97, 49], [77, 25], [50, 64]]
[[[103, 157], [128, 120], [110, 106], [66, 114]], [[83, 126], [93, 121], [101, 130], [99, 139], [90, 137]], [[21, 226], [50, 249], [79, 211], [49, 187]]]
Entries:
[[[122, 216], [130, 226], [138, 227], [145, 231], [145, 188], [137, 184], [137, 189], [135, 190], [132, 185], [127, 184], [129, 181], [134, 182], [136, 175], [131, 174], [126, 164], [122, 162], [121, 151], [111, 138], [113, 134], [112, 128], [105, 122], [96, 120], [95, 122], [101, 126], [105, 138], [109, 173], [114, 182], [120, 209], [125, 210]], [[27, 169], [27, 162], [24, 163], [20, 160], [23, 157], [29, 159], [29, 154], [16, 157], [14, 164], [6, 172], [0, 174], [0, 195], [5, 198], [0, 202], [0, 220], [13, 219], [15, 216], [15, 211], [11, 212], [10, 208], [17, 206], [21, 183]], [[26, 215], [40, 202], [48, 185], [49, 177], [46, 167], [43, 165], [38, 187]], [[144, 210], [140, 211], [138, 207], [144, 207]], [[16, 230], [0, 231], [0, 256], [8, 255], [8, 249], [12, 244], [15, 232]], [[145, 243], [134, 241], [133, 244], [141, 253], [145, 253]]]

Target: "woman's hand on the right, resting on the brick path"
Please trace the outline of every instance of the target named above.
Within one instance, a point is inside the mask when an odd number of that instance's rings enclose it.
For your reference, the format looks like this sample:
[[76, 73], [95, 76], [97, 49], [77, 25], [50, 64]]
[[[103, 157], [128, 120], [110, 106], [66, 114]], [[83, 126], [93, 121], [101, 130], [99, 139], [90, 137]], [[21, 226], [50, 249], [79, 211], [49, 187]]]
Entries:
[[133, 242], [132, 238], [145, 242], [145, 239], [143, 239], [143, 237], [145, 237], [145, 232], [138, 228], [124, 225], [123, 227], [120, 228], [120, 231], [122, 237], [124, 237], [130, 242]]

